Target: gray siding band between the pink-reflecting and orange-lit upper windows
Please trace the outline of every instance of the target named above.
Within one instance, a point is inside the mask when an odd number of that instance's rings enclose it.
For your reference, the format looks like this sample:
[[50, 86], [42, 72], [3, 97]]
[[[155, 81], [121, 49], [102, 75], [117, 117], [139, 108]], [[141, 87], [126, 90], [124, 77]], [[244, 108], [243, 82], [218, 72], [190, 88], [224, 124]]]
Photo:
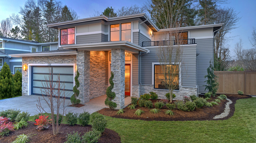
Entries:
[[107, 42], [107, 41], [108, 41], [108, 35], [105, 35], [102, 33], [76, 36], [76, 44], [97, 43], [97, 42]]

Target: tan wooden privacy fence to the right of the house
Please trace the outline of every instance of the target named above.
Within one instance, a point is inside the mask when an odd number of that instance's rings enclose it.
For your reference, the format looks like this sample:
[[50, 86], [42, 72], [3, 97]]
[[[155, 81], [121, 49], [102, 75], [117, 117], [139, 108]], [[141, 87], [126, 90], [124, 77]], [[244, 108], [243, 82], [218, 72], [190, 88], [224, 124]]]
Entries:
[[219, 94], [237, 94], [238, 90], [245, 95], [256, 95], [256, 71], [214, 71], [218, 76]]

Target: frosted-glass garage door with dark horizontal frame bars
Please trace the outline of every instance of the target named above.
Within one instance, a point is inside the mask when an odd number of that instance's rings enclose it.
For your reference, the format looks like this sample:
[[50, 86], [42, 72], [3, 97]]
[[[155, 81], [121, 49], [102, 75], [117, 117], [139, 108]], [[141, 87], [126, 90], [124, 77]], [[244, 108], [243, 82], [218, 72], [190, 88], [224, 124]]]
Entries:
[[[50, 75], [50, 73], [51, 75]], [[73, 95], [74, 87], [74, 67], [73, 66], [32, 66], [32, 91], [33, 95], [42, 95], [45, 90], [47, 80], [53, 79], [53, 85], [56, 83], [57, 77], [60, 75], [60, 83], [63, 90], [65, 85], [65, 97], [70, 99]], [[55, 89], [57, 86], [55, 86]], [[56, 90], [55, 90], [56, 91]], [[44, 94], [44, 92], [43, 92]], [[64, 96], [64, 95], [62, 95]]]

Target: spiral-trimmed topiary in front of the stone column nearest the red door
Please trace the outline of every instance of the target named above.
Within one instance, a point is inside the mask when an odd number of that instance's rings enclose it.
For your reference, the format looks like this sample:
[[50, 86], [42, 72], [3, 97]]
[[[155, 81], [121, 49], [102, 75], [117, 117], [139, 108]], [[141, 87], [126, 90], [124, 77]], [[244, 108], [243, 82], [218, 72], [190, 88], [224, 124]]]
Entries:
[[107, 98], [105, 100], [105, 105], [108, 106], [110, 109], [115, 109], [117, 107], [117, 103], [112, 101], [116, 97], [116, 93], [112, 92], [112, 89], [114, 88], [113, 78], [114, 78], [114, 73], [111, 71], [111, 76], [109, 78], [110, 86], [107, 88], [107, 91], [106, 91]]

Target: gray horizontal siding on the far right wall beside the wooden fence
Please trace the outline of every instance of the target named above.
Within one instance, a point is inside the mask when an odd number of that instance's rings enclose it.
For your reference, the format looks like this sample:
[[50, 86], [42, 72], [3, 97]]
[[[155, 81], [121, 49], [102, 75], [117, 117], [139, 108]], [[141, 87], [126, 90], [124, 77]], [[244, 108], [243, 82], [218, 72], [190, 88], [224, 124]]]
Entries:
[[207, 68], [210, 65], [210, 60], [213, 59], [213, 39], [196, 39], [197, 43], [197, 85], [199, 86], [199, 93], [206, 93], [204, 91], [206, 85], [204, 78], [207, 75]]

